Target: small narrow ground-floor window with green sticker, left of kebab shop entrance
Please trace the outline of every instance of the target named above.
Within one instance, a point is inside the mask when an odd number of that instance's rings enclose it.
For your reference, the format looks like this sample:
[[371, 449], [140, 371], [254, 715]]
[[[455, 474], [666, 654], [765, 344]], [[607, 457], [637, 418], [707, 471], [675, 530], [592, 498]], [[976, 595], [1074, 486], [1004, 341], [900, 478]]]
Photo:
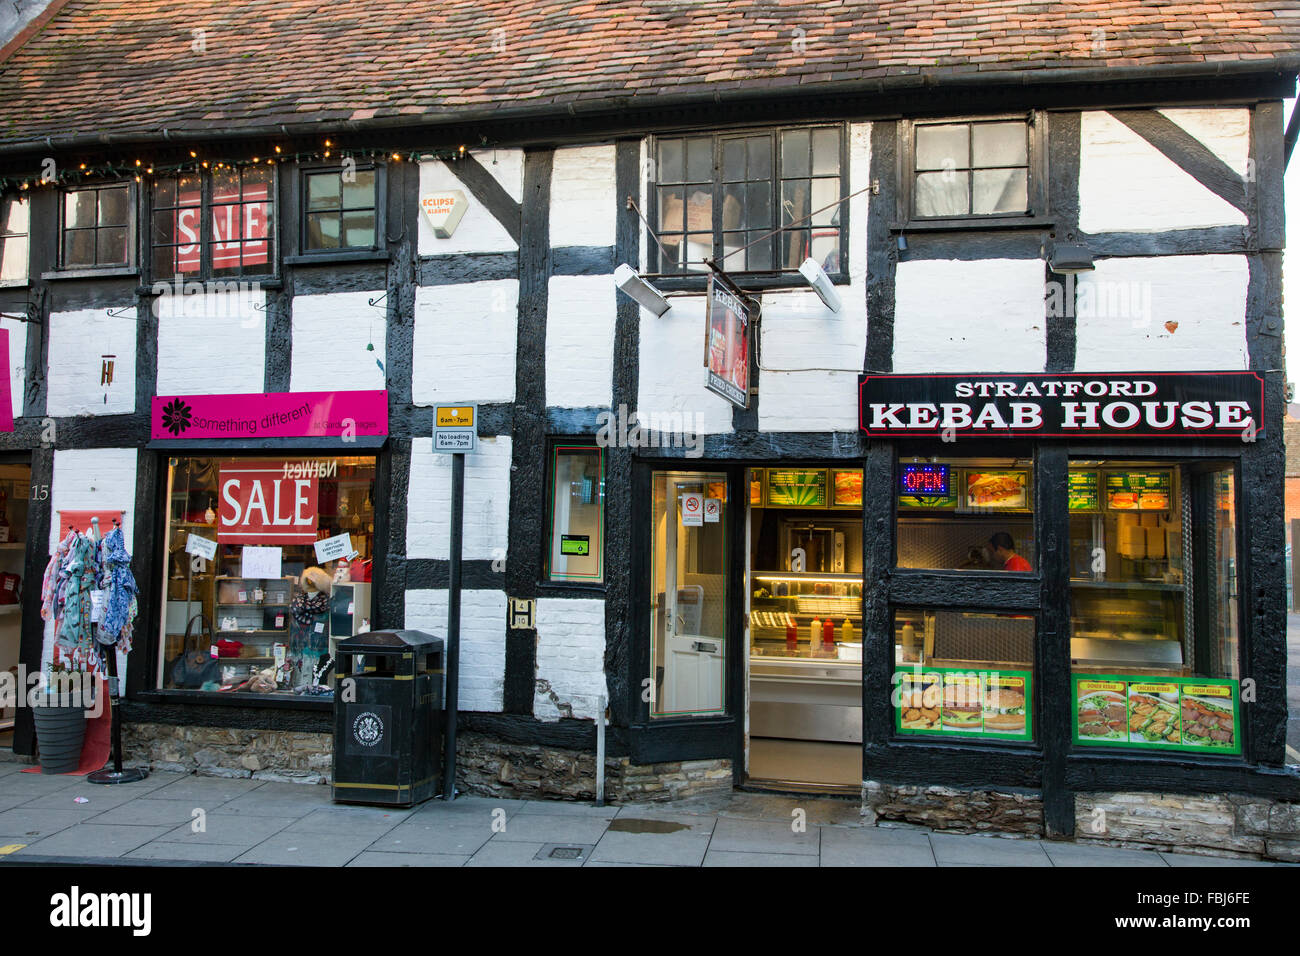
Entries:
[[556, 442], [550, 460], [551, 581], [604, 581], [604, 454], [584, 442]]

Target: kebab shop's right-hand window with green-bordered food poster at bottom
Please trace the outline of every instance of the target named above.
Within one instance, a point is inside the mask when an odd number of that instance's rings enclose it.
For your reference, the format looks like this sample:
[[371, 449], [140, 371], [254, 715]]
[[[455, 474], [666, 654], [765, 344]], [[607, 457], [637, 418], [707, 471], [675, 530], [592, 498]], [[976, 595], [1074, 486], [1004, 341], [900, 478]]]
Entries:
[[1075, 743], [1240, 753], [1236, 475], [1070, 466]]

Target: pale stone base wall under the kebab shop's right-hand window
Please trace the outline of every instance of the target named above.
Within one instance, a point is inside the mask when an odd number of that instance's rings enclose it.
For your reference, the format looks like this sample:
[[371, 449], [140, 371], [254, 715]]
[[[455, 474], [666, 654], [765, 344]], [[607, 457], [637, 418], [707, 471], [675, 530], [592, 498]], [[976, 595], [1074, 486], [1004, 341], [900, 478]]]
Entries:
[[1075, 838], [1300, 862], [1300, 804], [1244, 793], [1080, 793]]

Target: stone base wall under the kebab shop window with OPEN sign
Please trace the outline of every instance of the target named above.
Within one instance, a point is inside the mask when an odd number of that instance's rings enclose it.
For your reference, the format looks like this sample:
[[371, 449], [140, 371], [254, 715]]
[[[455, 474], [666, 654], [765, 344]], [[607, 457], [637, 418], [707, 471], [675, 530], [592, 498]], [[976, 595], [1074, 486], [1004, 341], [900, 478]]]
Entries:
[[1043, 800], [1035, 791], [956, 790], [866, 780], [862, 816], [868, 823], [894, 819], [963, 834], [1043, 835]]

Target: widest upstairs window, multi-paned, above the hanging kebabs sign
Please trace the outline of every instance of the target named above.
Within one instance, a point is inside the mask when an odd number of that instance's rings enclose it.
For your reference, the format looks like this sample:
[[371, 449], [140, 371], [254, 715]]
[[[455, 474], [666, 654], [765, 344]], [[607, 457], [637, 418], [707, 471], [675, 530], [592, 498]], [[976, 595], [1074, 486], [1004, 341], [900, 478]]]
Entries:
[[[840, 126], [659, 138], [651, 182], [658, 272], [845, 272]], [[775, 229], [783, 232], [768, 235]]]

